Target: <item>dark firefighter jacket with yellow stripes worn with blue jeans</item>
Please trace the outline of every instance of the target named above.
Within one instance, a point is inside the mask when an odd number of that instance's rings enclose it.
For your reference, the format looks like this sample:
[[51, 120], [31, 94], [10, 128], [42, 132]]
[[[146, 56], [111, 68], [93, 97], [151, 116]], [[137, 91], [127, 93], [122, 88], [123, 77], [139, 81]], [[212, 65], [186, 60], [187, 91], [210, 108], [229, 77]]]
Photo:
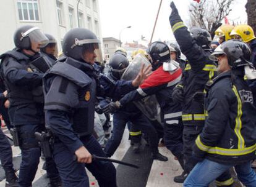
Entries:
[[194, 153], [215, 162], [237, 164], [251, 161], [256, 149], [256, 109], [243, 76], [231, 71], [210, 84], [205, 101], [207, 119], [195, 140]]

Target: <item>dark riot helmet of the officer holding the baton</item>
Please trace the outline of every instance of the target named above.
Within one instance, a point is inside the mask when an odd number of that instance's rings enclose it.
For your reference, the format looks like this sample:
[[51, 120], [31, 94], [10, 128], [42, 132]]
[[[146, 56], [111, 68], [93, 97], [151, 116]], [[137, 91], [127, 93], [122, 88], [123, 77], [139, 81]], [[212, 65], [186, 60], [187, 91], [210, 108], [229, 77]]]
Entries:
[[67, 57], [84, 61], [86, 50], [99, 49], [100, 40], [96, 35], [85, 28], [74, 28], [66, 33], [63, 39], [62, 50]]

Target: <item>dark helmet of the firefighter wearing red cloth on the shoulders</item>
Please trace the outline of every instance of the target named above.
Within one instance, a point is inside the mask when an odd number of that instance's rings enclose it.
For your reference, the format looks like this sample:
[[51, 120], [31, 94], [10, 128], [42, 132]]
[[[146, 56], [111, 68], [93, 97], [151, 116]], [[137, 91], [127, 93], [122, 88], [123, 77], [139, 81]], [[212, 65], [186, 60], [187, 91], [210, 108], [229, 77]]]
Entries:
[[153, 71], [171, 59], [169, 47], [164, 42], [153, 42], [148, 47], [147, 54], [150, 55], [152, 60], [151, 65]]

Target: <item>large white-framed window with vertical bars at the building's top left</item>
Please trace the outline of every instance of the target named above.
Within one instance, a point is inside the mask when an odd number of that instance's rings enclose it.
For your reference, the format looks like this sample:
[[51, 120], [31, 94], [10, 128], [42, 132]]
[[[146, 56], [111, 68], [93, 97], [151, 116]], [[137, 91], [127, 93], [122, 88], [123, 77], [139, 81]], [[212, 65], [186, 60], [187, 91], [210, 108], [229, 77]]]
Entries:
[[19, 19], [24, 21], [39, 21], [37, 0], [18, 0]]

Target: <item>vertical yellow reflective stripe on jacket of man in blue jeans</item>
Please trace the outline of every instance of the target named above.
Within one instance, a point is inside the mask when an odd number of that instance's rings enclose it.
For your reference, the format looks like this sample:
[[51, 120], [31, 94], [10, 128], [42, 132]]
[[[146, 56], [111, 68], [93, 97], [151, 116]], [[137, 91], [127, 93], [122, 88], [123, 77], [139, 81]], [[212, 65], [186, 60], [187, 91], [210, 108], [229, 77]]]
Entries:
[[242, 134], [241, 134], [241, 129], [242, 129], [242, 121], [241, 121], [242, 101], [241, 101], [241, 98], [239, 97], [236, 86], [233, 86], [232, 89], [233, 89], [234, 94], [237, 97], [237, 116], [236, 116], [236, 126], [234, 128], [234, 132], [236, 133], [237, 138], [238, 138], [237, 148], [244, 148], [244, 138], [242, 137]]

